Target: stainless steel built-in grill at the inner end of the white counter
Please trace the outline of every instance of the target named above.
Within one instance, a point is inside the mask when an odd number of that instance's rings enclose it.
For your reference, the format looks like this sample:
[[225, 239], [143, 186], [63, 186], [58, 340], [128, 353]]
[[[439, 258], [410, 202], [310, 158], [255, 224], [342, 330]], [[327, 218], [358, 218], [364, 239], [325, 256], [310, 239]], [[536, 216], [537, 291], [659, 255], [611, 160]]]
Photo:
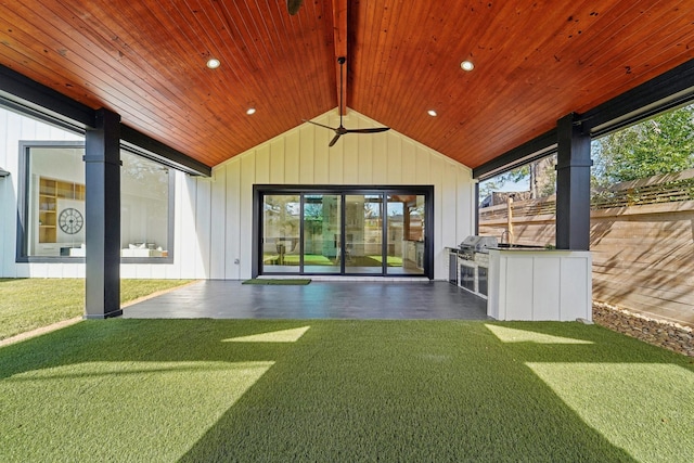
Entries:
[[494, 236], [470, 235], [458, 246], [458, 285], [487, 297], [489, 248], [496, 247]]

